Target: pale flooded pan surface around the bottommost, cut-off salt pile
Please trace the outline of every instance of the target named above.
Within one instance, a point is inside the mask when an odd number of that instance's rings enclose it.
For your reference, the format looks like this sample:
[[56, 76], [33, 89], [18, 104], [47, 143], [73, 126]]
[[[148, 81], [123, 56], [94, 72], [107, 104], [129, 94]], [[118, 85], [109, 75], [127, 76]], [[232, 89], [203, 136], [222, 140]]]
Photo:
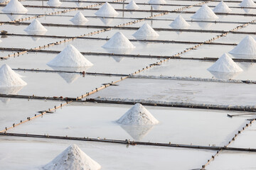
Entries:
[[[31, 140], [31, 141], [30, 141]], [[54, 155], [72, 145], [70, 140], [38, 140], [36, 138], [1, 137], [0, 169], [38, 170], [50, 162]], [[102, 169], [196, 169], [215, 152], [196, 149], [113, 145], [101, 142], [79, 142], [75, 144], [90, 157], [97, 160]], [[47, 149], [46, 149], [47, 148]], [[171, 159], [170, 159], [171, 158]], [[32, 161], [31, 161], [32, 160]], [[114, 160], [114, 161], [113, 161]], [[186, 164], [183, 164], [186, 162]]]

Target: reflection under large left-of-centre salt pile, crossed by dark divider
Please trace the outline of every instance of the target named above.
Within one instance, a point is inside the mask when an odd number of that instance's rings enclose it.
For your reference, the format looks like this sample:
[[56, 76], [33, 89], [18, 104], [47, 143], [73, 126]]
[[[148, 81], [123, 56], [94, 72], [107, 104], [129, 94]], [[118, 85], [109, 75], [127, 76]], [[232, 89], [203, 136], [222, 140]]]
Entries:
[[[66, 72], [86, 72], [90, 67], [53, 67], [49, 66], [55, 71], [66, 71]], [[68, 84], [73, 84], [81, 74], [79, 73], [58, 73]]]

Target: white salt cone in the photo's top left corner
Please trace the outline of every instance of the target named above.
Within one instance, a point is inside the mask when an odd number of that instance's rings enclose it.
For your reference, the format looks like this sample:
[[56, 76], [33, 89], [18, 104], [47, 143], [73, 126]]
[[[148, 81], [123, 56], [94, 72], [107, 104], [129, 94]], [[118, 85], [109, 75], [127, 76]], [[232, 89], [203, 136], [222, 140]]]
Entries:
[[11, 0], [2, 11], [6, 13], [26, 13], [28, 10], [18, 0]]

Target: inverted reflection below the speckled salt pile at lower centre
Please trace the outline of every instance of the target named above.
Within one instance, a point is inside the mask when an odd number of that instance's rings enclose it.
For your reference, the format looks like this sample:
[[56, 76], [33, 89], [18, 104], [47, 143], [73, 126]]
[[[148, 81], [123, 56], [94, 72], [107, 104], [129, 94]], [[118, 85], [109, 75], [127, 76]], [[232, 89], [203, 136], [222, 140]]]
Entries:
[[142, 140], [154, 125], [120, 125], [134, 140]]

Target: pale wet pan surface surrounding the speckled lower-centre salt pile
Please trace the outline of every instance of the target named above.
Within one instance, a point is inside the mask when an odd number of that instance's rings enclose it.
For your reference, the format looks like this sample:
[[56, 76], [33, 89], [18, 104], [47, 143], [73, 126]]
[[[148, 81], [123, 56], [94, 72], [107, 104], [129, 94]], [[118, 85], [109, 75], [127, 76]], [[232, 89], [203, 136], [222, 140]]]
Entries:
[[116, 123], [115, 120], [130, 107], [129, 105], [73, 103], [10, 132], [223, 146], [247, 123], [246, 118], [229, 118], [227, 114], [235, 114], [230, 111], [159, 106], [146, 107], [159, 120], [160, 123], [157, 125]]

